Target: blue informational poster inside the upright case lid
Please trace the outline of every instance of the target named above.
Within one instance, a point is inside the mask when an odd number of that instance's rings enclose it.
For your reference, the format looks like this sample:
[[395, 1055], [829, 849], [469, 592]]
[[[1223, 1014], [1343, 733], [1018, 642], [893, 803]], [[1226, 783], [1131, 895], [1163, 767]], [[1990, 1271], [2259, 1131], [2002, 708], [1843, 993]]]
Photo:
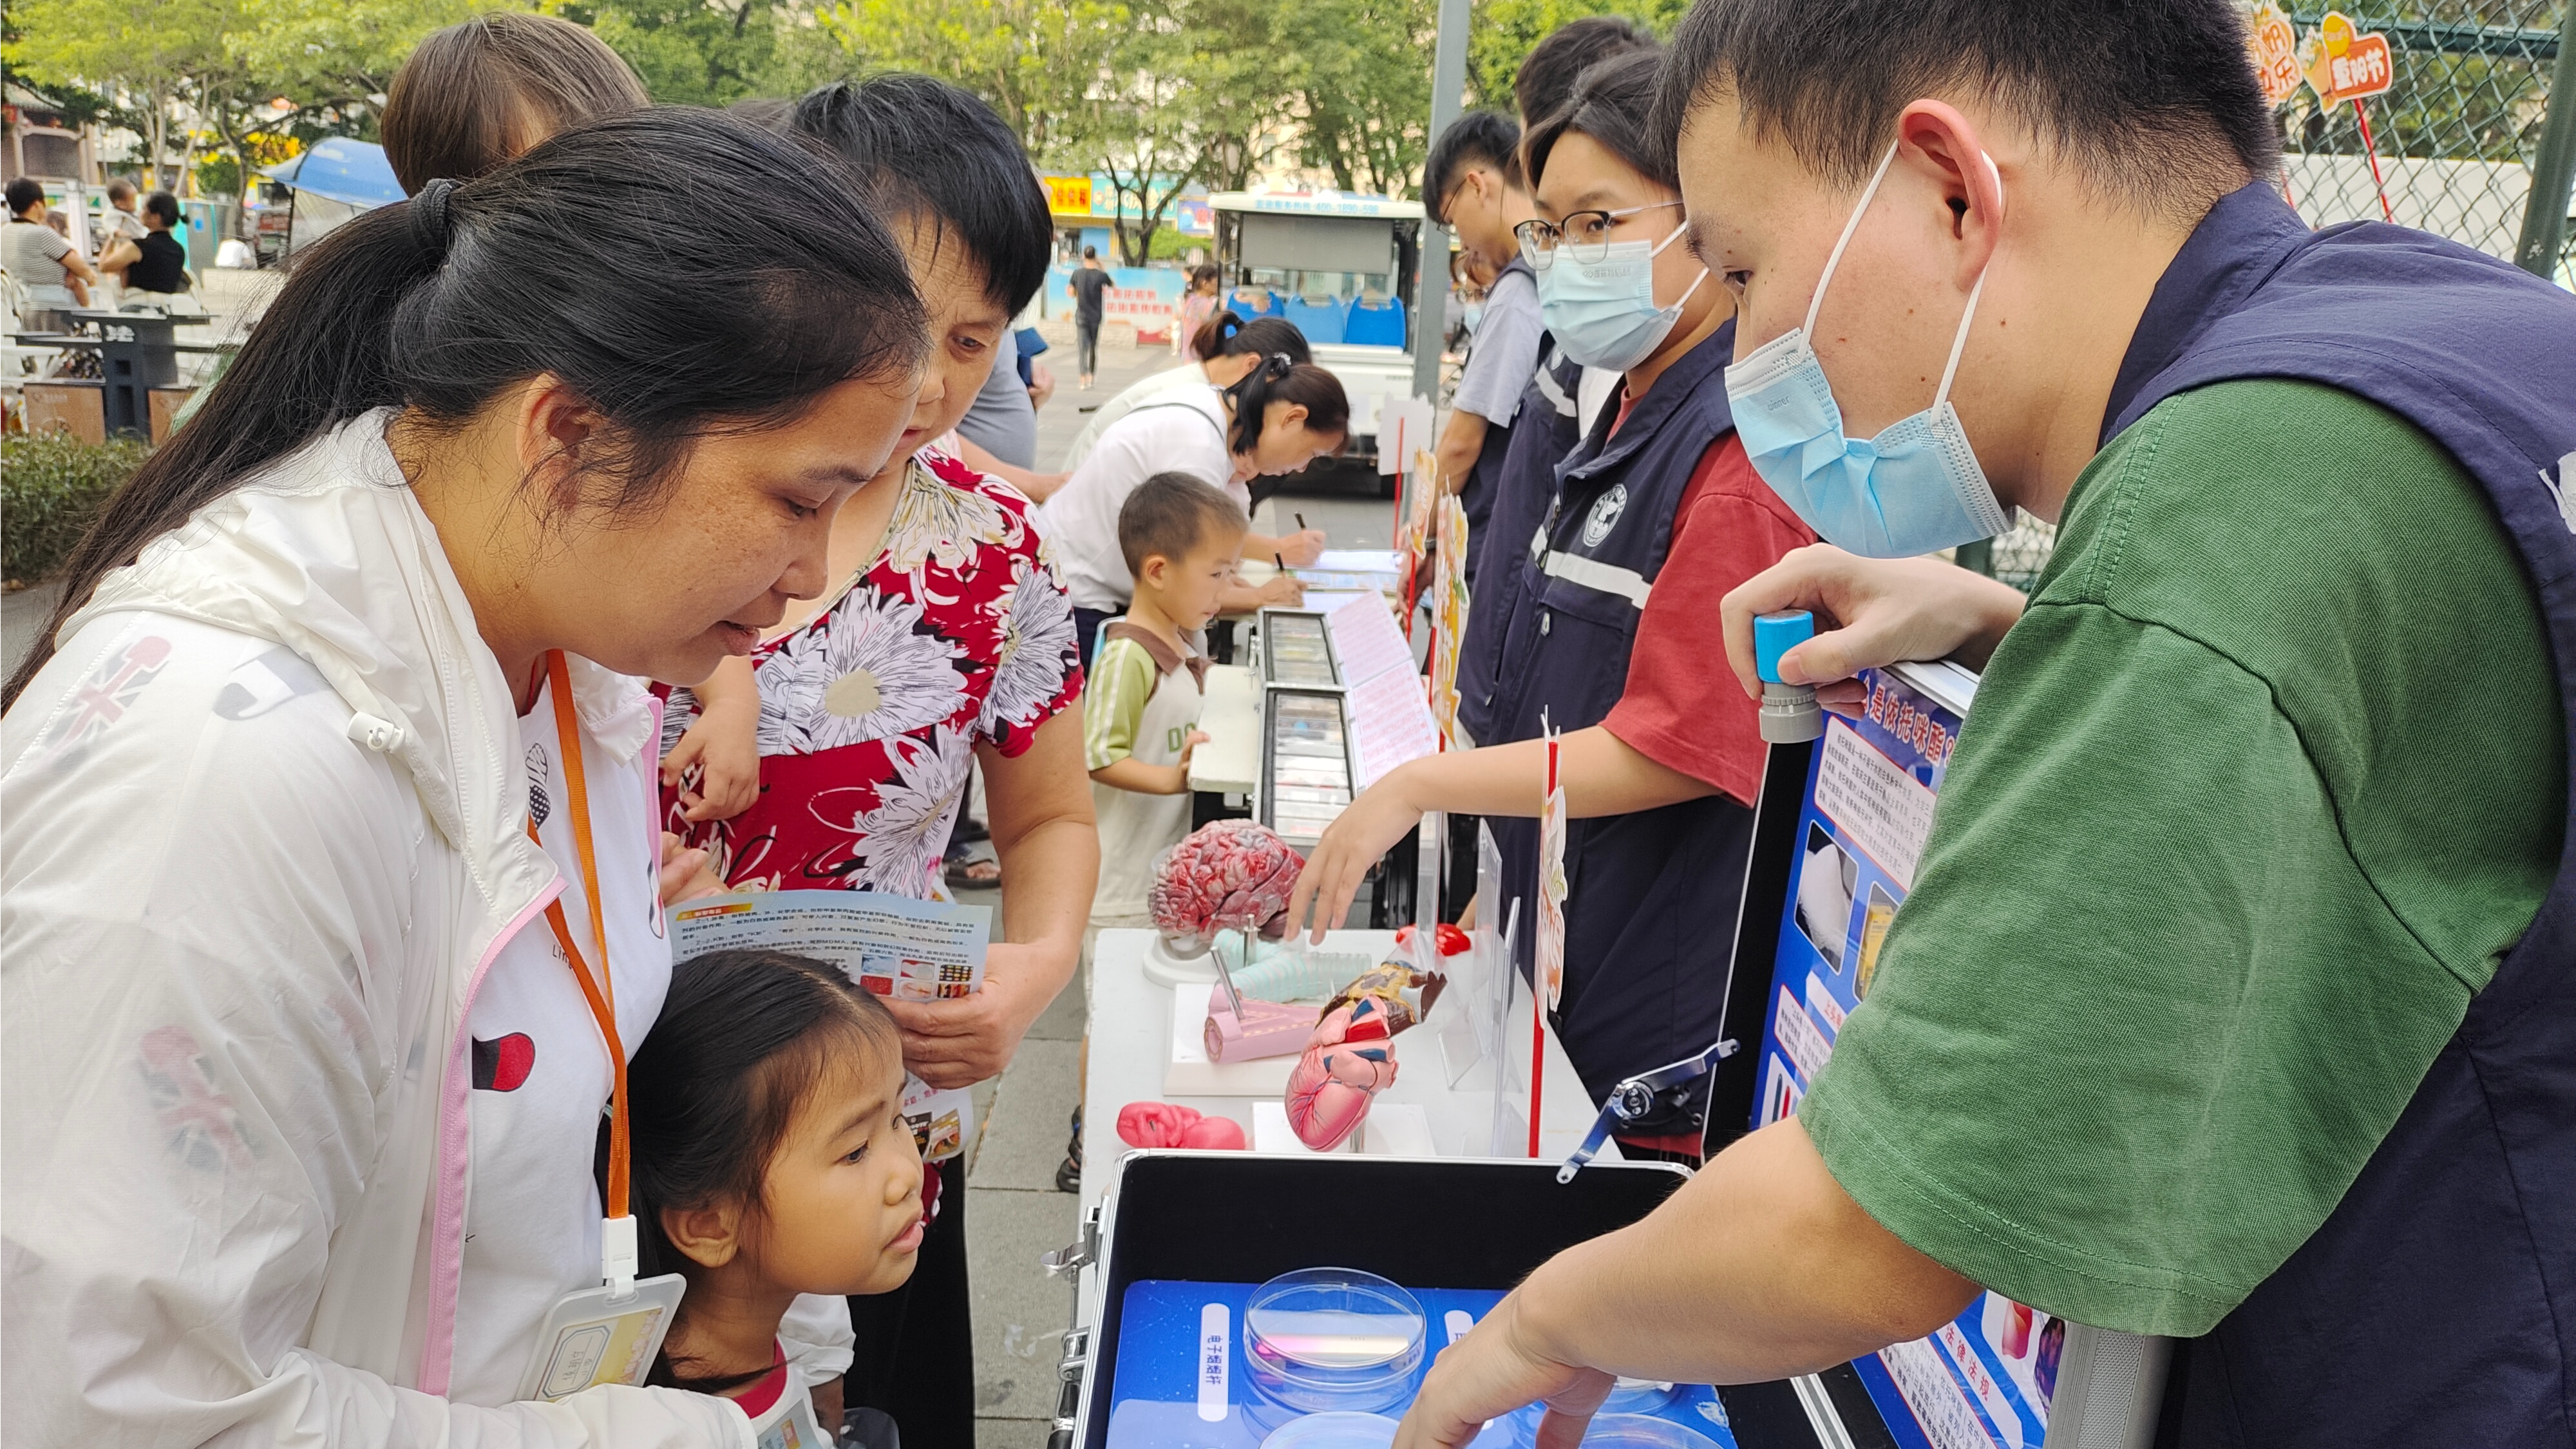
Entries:
[[[1955, 665], [1862, 670], [1860, 681], [1862, 717], [1829, 714], [1806, 773], [1752, 1127], [1798, 1109], [1844, 1016], [1870, 995], [1976, 699], [1976, 676]], [[1904, 1449], [2038, 1449], [2063, 1343], [2066, 1323], [1978, 1294], [1929, 1338], [1852, 1366]]]

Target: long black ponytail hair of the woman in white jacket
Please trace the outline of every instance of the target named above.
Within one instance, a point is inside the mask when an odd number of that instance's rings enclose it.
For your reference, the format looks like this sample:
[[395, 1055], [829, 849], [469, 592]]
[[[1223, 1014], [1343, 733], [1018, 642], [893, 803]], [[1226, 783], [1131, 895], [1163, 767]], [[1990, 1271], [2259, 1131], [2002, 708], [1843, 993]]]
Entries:
[[[698, 438], [778, 425], [842, 382], [912, 376], [927, 343], [904, 253], [845, 188], [817, 188], [817, 165], [742, 119], [647, 108], [479, 180], [433, 180], [299, 253], [204, 410], [72, 549], [0, 709], [100, 575], [374, 407], [461, 425], [554, 374], [613, 423], [585, 456], [585, 482], [605, 482], [585, 503], [649, 513]], [[778, 196], [801, 196], [809, 224], [744, 255], [737, 217]]]

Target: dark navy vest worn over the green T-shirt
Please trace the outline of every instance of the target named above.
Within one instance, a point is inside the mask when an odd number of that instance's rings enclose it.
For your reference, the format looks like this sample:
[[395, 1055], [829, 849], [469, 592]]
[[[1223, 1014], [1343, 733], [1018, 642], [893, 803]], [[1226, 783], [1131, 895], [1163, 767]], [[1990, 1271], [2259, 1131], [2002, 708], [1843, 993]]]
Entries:
[[[2244, 376], [2367, 397], [2486, 485], [2576, 750], [2576, 299], [2421, 232], [2308, 232], [2257, 183], [2156, 284], [2102, 436]], [[2159, 1441], [2576, 1444], [2576, 853], [2324, 1227], [2179, 1346]]]

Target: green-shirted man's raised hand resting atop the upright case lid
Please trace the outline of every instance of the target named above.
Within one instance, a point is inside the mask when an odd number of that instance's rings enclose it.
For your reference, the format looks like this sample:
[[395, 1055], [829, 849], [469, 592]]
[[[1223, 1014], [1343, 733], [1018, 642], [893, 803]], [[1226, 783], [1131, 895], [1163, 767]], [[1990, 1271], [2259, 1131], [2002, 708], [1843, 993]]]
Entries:
[[1865, 559], [1832, 544], [1793, 549], [1728, 590], [1726, 663], [1744, 694], [1762, 696], [1754, 673], [1754, 614], [1808, 608], [1816, 637], [1780, 655], [1785, 683], [1816, 686], [1816, 704], [1860, 709], [1865, 668], [1958, 657], [1986, 668], [2004, 629], [2022, 616], [2022, 590], [1945, 559]]

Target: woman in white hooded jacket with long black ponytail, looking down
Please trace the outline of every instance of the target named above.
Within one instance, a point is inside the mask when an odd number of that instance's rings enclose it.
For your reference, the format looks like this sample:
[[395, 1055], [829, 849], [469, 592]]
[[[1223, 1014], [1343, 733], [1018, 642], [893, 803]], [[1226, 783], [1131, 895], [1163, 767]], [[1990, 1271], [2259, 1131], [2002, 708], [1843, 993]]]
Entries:
[[819, 593], [912, 410], [904, 255], [811, 168], [647, 111], [350, 222], [82, 544], [0, 724], [13, 1444], [750, 1446], [510, 1400], [608, 1271], [574, 969], [626, 1049], [670, 977], [626, 676]]

